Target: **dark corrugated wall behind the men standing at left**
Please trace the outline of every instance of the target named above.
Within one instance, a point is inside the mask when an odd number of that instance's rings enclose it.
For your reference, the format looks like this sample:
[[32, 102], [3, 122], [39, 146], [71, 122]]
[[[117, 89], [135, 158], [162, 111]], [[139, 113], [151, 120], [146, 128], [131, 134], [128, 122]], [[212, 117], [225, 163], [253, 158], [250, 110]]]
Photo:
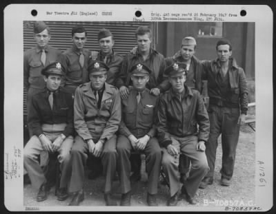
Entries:
[[[23, 49], [27, 50], [36, 45], [33, 38], [33, 21], [23, 21]], [[64, 51], [71, 47], [72, 36], [71, 30], [75, 25], [83, 25], [88, 32], [88, 41], [86, 48], [88, 50], [99, 50], [99, 42], [97, 34], [101, 28], [109, 29], [115, 39], [114, 50], [118, 54], [125, 55], [132, 47], [136, 45], [135, 30], [140, 25], [148, 25], [152, 28], [149, 22], [66, 22], [66, 21], [46, 21], [50, 27], [51, 39], [49, 45], [57, 47]], [[26, 90], [23, 97], [23, 114], [26, 121]]]

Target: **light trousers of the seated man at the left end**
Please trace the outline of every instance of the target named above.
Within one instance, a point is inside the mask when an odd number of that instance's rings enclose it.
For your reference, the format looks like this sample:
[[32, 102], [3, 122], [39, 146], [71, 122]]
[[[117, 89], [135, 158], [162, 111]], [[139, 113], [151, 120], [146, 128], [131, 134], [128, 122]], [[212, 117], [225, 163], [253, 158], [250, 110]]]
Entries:
[[[44, 132], [52, 142], [61, 134], [61, 132], [47, 133]], [[59, 156], [57, 159], [60, 162], [61, 181], [60, 188], [66, 187], [71, 175], [70, 150], [72, 148], [74, 139], [72, 136], [64, 139], [59, 148]], [[28, 176], [35, 189], [39, 189], [41, 184], [47, 182], [43, 170], [39, 164], [38, 157], [44, 151], [41, 142], [37, 136], [32, 136], [24, 147], [24, 170], [28, 172]]]

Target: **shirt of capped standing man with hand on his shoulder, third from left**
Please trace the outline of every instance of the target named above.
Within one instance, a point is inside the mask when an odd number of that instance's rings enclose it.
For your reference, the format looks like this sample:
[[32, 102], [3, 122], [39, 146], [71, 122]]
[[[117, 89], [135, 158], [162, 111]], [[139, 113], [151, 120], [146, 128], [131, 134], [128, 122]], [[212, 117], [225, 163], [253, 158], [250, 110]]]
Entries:
[[[97, 61], [103, 61], [104, 55], [101, 52], [97, 54]], [[106, 83], [110, 85], [115, 85], [115, 81], [118, 78], [119, 71], [121, 69], [121, 63], [123, 62], [123, 56], [117, 54], [112, 50], [112, 54], [106, 56], [106, 65], [108, 65], [109, 70], [106, 77]]]

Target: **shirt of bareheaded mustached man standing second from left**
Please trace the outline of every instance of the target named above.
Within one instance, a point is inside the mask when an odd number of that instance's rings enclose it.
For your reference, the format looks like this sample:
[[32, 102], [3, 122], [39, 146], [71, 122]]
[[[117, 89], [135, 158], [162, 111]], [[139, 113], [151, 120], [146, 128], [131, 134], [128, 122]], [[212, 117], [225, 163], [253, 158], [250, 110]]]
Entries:
[[79, 55], [80, 52], [76, 47], [72, 46], [65, 52], [63, 52], [63, 61], [62, 64], [65, 68], [66, 75], [64, 78], [63, 84], [68, 86], [79, 86], [82, 83], [89, 82], [88, 75], [88, 61], [90, 59], [91, 53], [89, 50], [83, 48], [81, 50], [84, 56], [84, 64], [83, 67], [79, 64]]

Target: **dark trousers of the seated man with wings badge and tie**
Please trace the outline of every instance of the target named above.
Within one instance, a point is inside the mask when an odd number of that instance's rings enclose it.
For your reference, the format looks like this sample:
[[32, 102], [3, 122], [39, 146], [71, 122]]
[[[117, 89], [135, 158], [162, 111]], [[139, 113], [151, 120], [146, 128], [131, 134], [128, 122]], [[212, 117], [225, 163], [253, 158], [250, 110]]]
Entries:
[[[142, 136], [140, 136], [142, 137]], [[118, 173], [121, 181], [121, 193], [130, 191], [130, 154], [135, 151], [130, 140], [126, 136], [120, 135], [117, 140], [118, 152]], [[146, 172], [148, 173], [148, 193], [157, 193], [157, 184], [161, 167], [161, 149], [157, 138], [150, 138], [143, 153], [146, 154]]]

